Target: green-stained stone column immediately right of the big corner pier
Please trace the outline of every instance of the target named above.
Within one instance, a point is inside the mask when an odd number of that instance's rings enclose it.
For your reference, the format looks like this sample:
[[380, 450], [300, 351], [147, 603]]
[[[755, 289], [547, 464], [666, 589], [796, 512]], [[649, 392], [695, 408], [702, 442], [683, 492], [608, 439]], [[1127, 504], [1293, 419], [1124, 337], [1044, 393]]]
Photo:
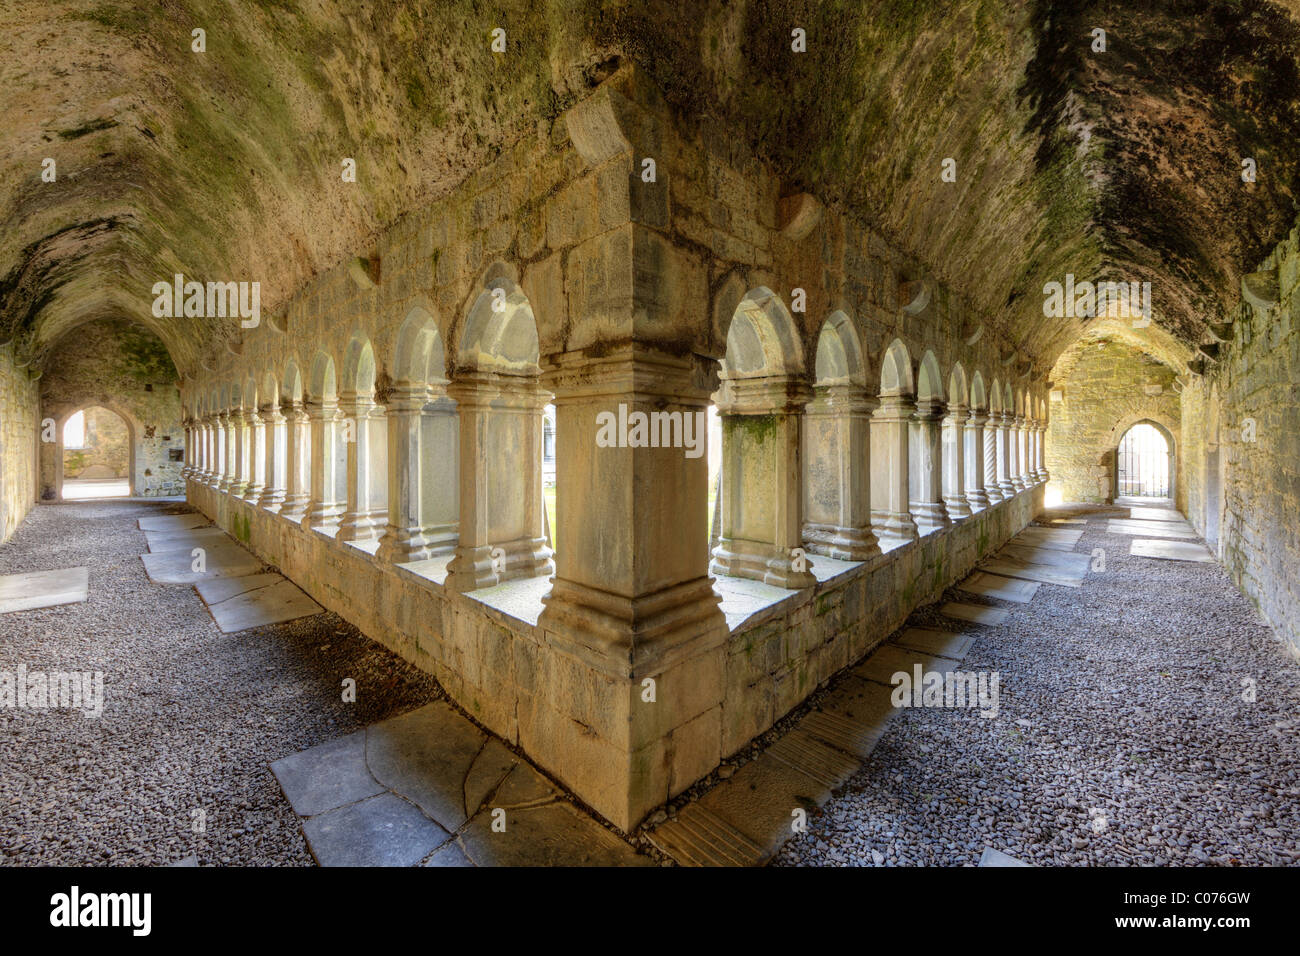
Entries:
[[802, 548], [800, 432], [810, 398], [807, 385], [788, 377], [723, 382], [723, 527], [712, 574], [777, 588], [816, 584]]

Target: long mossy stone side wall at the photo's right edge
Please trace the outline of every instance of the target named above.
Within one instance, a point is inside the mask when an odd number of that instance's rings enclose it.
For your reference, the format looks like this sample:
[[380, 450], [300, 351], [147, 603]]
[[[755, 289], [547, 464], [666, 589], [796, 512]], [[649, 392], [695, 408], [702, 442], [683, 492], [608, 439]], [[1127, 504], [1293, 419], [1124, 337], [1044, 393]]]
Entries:
[[1182, 399], [1195, 460], [1187, 516], [1300, 653], [1297, 277], [1300, 230], [1292, 230], [1247, 280], [1254, 304], [1243, 304], [1218, 363]]

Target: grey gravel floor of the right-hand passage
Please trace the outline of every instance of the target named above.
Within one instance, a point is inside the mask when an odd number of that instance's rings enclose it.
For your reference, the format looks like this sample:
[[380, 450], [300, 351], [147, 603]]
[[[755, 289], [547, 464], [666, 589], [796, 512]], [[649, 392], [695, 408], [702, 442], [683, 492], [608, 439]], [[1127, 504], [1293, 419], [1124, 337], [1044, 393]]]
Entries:
[[[1300, 666], [1218, 564], [1105, 550], [1083, 588], [1044, 584], [961, 665], [997, 671], [1000, 713], [905, 709], [779, 865], [1294, 865]], [[937, 606], [909, 622], [957, 630]], [[1256, 684], [1254, 702], [1243, 700]]]

